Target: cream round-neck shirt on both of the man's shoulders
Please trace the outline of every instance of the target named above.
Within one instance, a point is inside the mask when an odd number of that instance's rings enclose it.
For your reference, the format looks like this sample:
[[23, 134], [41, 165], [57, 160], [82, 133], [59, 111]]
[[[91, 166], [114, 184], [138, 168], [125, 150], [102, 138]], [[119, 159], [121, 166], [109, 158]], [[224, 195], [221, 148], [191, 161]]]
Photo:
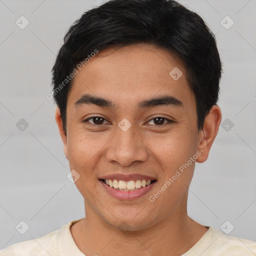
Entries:
[[[78, 219], [79, 220], [79, 219]], [[70, 232], [73, 220], [39, 238], [18, 242], [0, 250], [0, 256], [84, 256]], [[228, 236], [208, 227], [200, 240], [181, 256], [255, 256], [256, 242]], [[100, 256], [100, 251], [94, 255]]]

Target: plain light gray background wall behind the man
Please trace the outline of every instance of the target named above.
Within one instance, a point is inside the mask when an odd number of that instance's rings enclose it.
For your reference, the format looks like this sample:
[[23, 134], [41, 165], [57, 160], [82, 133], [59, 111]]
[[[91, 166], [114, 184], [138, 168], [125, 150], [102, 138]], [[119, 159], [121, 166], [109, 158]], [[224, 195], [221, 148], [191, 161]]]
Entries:
[[[66, 29], [100, 2], [0, 0], [0, 249], [84, 217], [46, 94]], [[208, 160], [196, 163], [188, 214], [219, 230], [228, 220], [229, 235], [256, 241], [256, 0], [181, 2], [216, 34], [224, 71], [218, 103], [222, 122], [228, 118]], [[15, 24], [21, 15], [29, 21], [24, 29]], [[220, 23], [226, 15], [234, 21], [229, 29]], [[15, 229], [21, 220], [29, 226], [23, 235]]]

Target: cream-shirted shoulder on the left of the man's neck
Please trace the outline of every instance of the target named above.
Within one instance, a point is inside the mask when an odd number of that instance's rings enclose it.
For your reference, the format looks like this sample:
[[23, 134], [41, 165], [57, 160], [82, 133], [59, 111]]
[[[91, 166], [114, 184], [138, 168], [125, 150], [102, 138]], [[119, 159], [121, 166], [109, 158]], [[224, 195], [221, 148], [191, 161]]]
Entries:
[[14, 243], [0, 250], [0, 256], [58, 256], [57, 236], [68, 225], [70, 222], [41, 237]]

